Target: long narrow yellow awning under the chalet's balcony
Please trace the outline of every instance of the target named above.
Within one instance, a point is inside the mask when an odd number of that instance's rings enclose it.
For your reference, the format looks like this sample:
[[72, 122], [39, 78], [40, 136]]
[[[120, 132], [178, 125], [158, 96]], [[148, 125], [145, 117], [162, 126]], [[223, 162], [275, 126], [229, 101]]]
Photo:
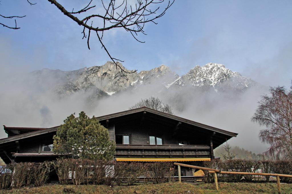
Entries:
[[186, 162], [210, 160], [211, 158], [116, 158], [116, 161], [135, 161], [135, 162]]

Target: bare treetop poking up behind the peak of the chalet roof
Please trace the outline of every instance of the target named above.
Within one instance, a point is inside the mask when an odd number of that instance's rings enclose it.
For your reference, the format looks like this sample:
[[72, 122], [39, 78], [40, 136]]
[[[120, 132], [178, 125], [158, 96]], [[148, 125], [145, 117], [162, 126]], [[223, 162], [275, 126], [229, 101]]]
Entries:
[[159, 98], [150, 97], [147, 99], [141, 99], [140, 102], [136, 103], [134, 106], [130, 107], [129, 109], [135, 109], [140, 107], [148, 107], [154, 110], [158, 110], [167, 114], [173, 114], [171, 107], [168, 104], [163, 104]]

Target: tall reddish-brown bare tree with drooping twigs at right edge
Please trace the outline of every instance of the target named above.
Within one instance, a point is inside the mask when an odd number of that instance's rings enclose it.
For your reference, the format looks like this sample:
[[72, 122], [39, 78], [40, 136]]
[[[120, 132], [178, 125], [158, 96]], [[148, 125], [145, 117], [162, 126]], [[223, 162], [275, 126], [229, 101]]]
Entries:
[[271, 87], [270, 96], [262, 96], [251, 120], [266, 129], [259, 138], [270, 144], [266, 154], [277, 158], [292, 159], [292, 86]]

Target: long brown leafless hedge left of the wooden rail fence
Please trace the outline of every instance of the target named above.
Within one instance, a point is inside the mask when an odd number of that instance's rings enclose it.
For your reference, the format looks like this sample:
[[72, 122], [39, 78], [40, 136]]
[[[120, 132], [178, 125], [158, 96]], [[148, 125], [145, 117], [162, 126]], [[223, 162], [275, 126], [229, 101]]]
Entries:
[[[172, 162], [106, 162], [87, 159], [57, 159], [43, 163], [13, 163], [0, 168], [0, 189], [20, 188], [23, 185], [41, 186], [55, 172], [60, 184], [128, 184], [171, 181]], [[144, 177], [144, 180], [143, 178]]]

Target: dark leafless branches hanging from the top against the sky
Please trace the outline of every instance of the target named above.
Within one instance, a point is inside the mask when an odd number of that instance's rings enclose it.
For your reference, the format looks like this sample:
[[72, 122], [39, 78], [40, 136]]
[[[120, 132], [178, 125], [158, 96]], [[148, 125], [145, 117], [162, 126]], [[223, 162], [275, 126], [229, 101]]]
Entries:
[[[138, 40], [138, 34], [142, 33], [146, 35], [144, 31], [145, 24], [148, 22], [152, 22], [157, 24], [155, 20], [159, 17], [162, 17], [168, 8], [173, 4], [174, 0], [169, 0], [165, 7], [161, 10], [159, 5], [164, 3], [164, 0], [135, 0], [136, 3], [129, 4], [127, 0], [105, 0], [107, 3], [104, 3], [104, 0], [101, 0], [102, 7], [104, 9], [103, 13], [94, 13], [94, 14], [85, 14], [86, 11], [91, 10], [93, 11], [96, 6], [92, 5], [92, 1], [90, 0], [87, 6], [84, 8], [74, 11], [67, 11], [64, 6], [58, 3], [56, 0], [48, 0], [50, 3], [55, 5], [64, 15], [71, 18], [74, 22], [78, 25], [83, 27], [82, 31], [82, 39], [87, 39], [87, 47], [90, 49], [89, 46], [89, 39], [91, 35], [91, 31], [96, 33], [96, 37], [98, 38], [101, 48], [104, 48], [107, 55], [116, 65], [116, 68], [120, 68], [122, 71], [126, 73], [134, 73], [137, 70], [128, 72], [125, 71], [117, 61], [121, 61], [120, 59], [116, 59], [112, 57], [109, 53], [107, 48], [105, 47], [104, 43], [102, 42], [103, 33], [105, 31], [114, 29], [114, 28], [122, 28], [133, 36], [135, 40], [140, 43], [144, 43], [143, 41]], [[27, 0], [30, 5], [35, 5], [36, 3], [31, 3]], [[79, 17], [77, 17], [77, 15]], [[16, 17], [25, 17], [25, 16], [3, 16], [4, 18], [16, 18]], [[10, 29], [20, 29], [16, 25], [15, 20], [15, 27], [10, 27], [8, 25], [2, 24], [3, 27], [7, 27]], [[124, 62], [124, 61], [121, 61]]]

